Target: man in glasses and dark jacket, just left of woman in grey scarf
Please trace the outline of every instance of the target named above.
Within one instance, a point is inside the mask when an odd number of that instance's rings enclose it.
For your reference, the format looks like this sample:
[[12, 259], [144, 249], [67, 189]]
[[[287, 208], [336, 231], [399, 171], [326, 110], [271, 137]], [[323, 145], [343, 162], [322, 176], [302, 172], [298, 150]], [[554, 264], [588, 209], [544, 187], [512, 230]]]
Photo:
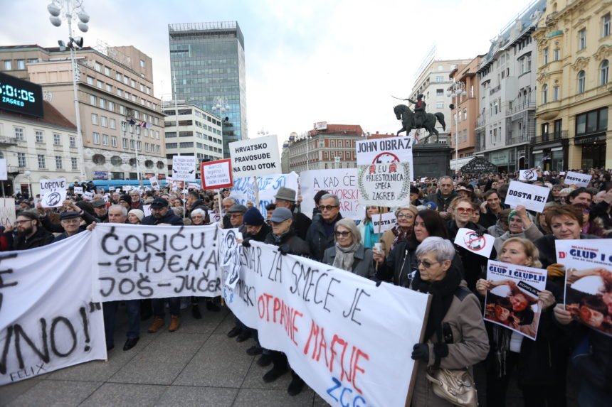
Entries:
[[316, 261], [322, 261], [325, 249], [334, 246], [334, 226], [342, 219], [340, 200], [336, 195], [323, 195], [319, 201], [319, 210], [321, 216], [312, 220], [306, 234], [310, 257]]

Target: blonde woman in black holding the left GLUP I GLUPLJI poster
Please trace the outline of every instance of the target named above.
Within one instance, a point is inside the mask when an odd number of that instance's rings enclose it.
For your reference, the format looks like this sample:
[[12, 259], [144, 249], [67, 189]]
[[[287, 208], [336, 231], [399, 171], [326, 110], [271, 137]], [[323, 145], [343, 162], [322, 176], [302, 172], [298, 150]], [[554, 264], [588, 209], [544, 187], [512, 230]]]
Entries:
[[[512, 237], [502, 243], [498, 260], [507, 264], [539, 268], [539, 252], [527, 239]], [[490, 290], [507, 285], [508, 297], [500, 298]], [[515, 330], [508, 330], [492, 322], [486, 322], [489, 334], [490, 352], [487, 357], [487, 406], [505, 406], [506, 393], [512, 371], [519, 369], [519, 387], [522, 389], [526, 406], [562, 406], [565, 398], [565, 381], [557, 382], [559, 369], [565, 359], [559, 359], [550, 352], [556, 337], [561, 332], [552, 323], [552, 307], [561, 300], [561, 292], [547, 281], [546, 290], [537, 298], [519, 290], [510, 280], [487, 281], [481, 278], [476, 290], [482, 297], [487, 296], [487, 310], [498, 322], [536, 337], [535, 341], [525, 340]], [[491, 300], [490, 297], [495, 297]], [[537, 302], [537, 313], [532, 303]], [[558, 388], [561, 386], [561, 389]], [[548, 402], [548, 404], [547, 404]]]

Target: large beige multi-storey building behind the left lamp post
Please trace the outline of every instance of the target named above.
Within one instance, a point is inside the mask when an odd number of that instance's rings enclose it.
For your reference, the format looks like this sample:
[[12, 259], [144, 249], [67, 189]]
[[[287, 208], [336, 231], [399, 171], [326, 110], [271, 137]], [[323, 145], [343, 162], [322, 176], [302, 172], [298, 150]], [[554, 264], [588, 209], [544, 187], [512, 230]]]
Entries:
[[[76, 123], [69, 56], [39, 45], [0, 47], [0, 70], [41, 85], [46, 100]], [[152, 59], [132, 46], [85, 47], [76, 58], [86, 177], [163, 177], [164, 115], [154, 97]]]

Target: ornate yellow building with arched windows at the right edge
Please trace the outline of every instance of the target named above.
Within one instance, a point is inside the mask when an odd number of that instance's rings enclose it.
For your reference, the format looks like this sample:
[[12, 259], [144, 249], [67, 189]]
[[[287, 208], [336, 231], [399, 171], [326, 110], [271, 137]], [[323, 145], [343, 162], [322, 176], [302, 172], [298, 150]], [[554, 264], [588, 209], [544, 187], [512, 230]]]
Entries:
[[612, 3], [548, 0], [534, 38], [537, 137], [534, 162], [558, 151], [559, 168], [612, 168]]

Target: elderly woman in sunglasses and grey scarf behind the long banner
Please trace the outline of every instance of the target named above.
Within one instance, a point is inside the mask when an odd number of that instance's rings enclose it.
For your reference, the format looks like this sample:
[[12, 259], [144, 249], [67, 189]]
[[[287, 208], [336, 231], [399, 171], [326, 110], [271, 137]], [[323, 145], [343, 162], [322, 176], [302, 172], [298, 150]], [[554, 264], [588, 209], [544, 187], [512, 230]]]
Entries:
[[334, 226], [334, 237], [336, 244], [325, 250], [323, 263], [374, 280], [372, 251], [362, 244], [362, 235], [355, 222], [340, 219]]

